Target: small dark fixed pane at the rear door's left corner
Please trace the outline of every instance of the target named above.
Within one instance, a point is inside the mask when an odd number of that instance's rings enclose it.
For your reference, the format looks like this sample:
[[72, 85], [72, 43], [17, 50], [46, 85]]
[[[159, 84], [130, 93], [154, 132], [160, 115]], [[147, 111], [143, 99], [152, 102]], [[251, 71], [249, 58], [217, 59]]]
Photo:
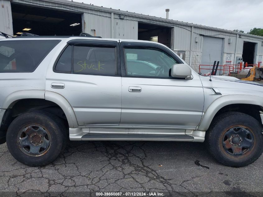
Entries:
[[59, 72], [71, 72], [71, 56], [72, 56], [72, 46], [67, 46], [67, 48], [61, 54], [55, 70]]

